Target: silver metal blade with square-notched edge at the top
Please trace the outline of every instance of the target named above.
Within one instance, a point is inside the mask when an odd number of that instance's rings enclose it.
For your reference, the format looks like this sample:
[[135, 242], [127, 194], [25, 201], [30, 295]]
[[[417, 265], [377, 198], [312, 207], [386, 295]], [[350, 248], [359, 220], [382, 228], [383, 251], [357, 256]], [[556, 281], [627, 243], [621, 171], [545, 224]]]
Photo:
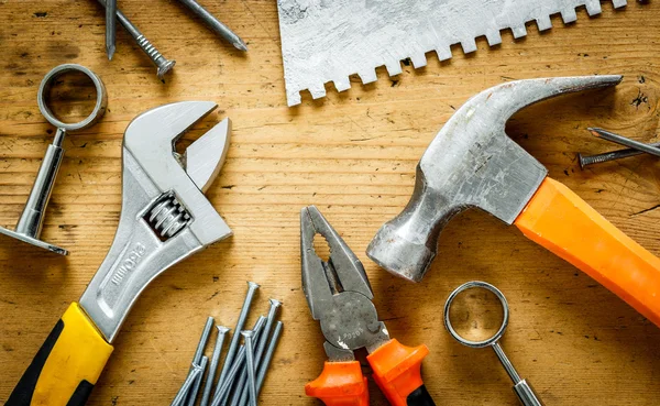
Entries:
[[[612, 0], [615, 8], [626, 0]], [[475, 39], [502, 43], [501, 31], [527, 35], [525, 24], [552, 28], [550, 15], [564, 23], [578, 20], [575, 9], [601, 13], [600, 0], [277, 0], [282, 56], [288, 106], [300, 103], [300, 91], [326, 96], [326, 84], [338, 91], [351, 87], [349, 76], [363, 84], [376, 80], [376, 68], [389, 76], [402, 73], [402, 61], [426, 66], [426, 53], [451, 58], [451, 46], [476, 51]]]

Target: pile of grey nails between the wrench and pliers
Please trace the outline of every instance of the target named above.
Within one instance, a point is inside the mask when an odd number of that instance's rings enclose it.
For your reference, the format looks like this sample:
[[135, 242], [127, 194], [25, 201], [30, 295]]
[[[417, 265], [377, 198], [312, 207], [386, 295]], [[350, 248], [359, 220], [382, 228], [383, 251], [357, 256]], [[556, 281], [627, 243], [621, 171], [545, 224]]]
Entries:
[[[218, 380], [216, 380], [216, 372], [220, 364], [222, 345], [230, 329], [223, 326], [216, 326], [218, 338], [216, 339], [209, 362], [209, 358], [204, 353], [209, 342], [215, 320], [212, 317], [207, 319], [188, 376], [174, 400], [172, 400], [170, 406], [194, 406], [200, 396], [200, 406], [256, 405], [283, 327], [282, 321], [275, 320], [282, 303], [276, 299], [270, 299], [268, 315], [260, 316], [251, 330], [243, 329], [257, 288], [258, 285], [254, 282], [248, 283], [248, 294], [243, 301], [234, 333], [231, 334], [229, 350], [224, 356], [224, 363], [220, 369]], [[241, 337], [243, 337], [243, 344], [239, 347]], [[213, 394], [212, 397], [211, 393]]]

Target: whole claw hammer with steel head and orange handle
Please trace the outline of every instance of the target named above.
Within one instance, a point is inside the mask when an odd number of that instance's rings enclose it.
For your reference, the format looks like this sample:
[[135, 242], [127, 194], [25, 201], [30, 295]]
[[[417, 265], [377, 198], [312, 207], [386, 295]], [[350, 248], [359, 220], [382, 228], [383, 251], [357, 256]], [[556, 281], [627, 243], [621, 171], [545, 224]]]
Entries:
[[505, 133], [518, 110], [563, 94], [619, 84], [622, 76], [517, 80], [470, 99], [436, 135], [417, 165], [415, 190], [366, 254], [419, 282], [443, 227], [479, 208], [570, 262], [660, 326], [660, 260], [609, 223]]

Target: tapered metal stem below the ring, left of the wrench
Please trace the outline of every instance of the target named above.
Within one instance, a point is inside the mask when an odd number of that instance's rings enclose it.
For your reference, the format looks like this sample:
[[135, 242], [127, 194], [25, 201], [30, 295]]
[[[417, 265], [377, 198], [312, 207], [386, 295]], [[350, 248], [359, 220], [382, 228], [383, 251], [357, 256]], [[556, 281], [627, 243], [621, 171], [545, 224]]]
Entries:
[[32, 185], [30, 197], [25, 204], [25, 208], [21, 213], [21, 218], [16, 223], [15, 231], [22, 234], [38, 239], [44, 221], [44, 212], [51, 199], [53, 185], [59, 172], [59, 165], [64, 156], [62, 142], [64, 141], [65, 130], [57, 129], [53, 144], [48, 145], [44, 160], [38, 167], [36, 180]]

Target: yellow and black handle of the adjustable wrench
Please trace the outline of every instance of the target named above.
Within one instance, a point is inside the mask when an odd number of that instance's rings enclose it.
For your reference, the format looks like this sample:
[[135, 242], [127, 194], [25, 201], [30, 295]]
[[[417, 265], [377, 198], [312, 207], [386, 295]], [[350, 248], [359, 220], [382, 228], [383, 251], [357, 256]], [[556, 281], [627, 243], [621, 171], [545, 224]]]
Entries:
[[4, 405], [85, 405], [112, 350], [80, 306], [73, 303]]

